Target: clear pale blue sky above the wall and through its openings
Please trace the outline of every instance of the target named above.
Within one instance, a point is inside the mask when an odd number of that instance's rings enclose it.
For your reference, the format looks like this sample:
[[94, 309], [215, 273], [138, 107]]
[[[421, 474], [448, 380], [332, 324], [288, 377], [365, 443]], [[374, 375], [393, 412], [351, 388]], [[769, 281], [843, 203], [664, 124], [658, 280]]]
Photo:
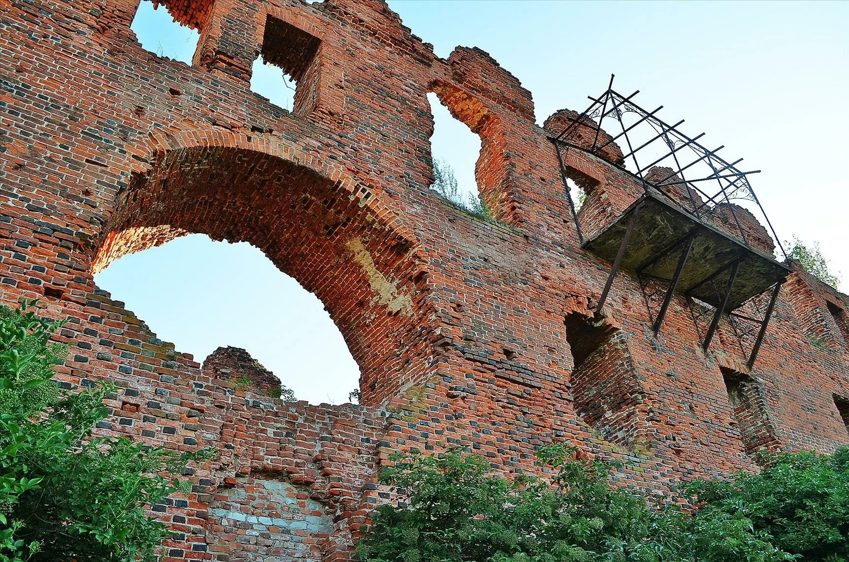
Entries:
[[[751, 178], [779, 237], [818, 241], [849, 284], [849, 3], [390, 2], [436, 53], [480, 47], [531, 90], [537, 121], [583, 110], [611, 73], [621, 93], [664, 105], [668, 122], [725, 144]], [[197, 35], [145, 0], [145, 48], [190, 61]], [[255, 65], [255, 90], [281, 107], [280, 71]], [[436, 106], [436, 158], [474, 189], [479, 140]], [[311, 402], [346, 402], [357, 365], [315, 297], [248, 244], [178, 239], [127, 256], [98, 284], [177, 349], [203, 358], [245, 347]]]

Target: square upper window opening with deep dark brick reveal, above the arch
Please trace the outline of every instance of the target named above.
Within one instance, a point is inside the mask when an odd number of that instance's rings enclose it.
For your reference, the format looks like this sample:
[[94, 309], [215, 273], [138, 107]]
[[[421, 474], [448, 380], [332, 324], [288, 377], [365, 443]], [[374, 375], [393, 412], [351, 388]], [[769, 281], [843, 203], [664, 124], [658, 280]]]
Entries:
[[318, 37], [269, 15], [250, 89], [284, 110], [309, 114], [318, 99], [320, 48]]

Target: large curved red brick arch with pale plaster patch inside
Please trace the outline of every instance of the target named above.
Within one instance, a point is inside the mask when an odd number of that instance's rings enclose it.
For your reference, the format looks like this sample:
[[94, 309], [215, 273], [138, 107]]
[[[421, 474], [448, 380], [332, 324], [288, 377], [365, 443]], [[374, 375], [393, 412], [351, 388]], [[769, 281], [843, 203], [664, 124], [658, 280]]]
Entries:
[[416, 378], [426, 261], [371, 188], [265, 134], [160, 133], [147, 149], [131, 152], [136, 169], [98, 235], [93, 273], [188, 233], [249, 242], [323, 301], [362, 370], [363, 403]]

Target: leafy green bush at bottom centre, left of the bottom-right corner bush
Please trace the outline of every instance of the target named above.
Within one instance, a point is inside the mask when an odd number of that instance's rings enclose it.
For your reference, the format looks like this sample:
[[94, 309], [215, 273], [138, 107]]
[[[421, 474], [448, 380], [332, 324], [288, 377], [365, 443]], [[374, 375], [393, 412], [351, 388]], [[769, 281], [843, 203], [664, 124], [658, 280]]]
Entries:
[[548, 481], [488, 475], [490, 465], [456, 450], [396, 458], [381, 483], [406, 507], [375, 509], [357, 555], [372, 562], [560, 562], [666, 560], [667, 522], [643, 498], [608, 484], [608, 467], [543, 449]]

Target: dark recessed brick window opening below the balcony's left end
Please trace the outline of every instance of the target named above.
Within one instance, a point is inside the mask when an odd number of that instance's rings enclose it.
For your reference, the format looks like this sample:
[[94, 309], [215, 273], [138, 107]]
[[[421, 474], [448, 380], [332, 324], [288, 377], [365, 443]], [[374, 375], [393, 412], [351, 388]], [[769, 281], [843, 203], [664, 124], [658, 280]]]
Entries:
[[645, 396], [625, 334], [578, 314], [567, 316], [565, 327], [575, 360], [571, 387], [576, 413], [604, 439], [622, 447], [639, 445], [645, 424], [638, 419], [637, 405]]

